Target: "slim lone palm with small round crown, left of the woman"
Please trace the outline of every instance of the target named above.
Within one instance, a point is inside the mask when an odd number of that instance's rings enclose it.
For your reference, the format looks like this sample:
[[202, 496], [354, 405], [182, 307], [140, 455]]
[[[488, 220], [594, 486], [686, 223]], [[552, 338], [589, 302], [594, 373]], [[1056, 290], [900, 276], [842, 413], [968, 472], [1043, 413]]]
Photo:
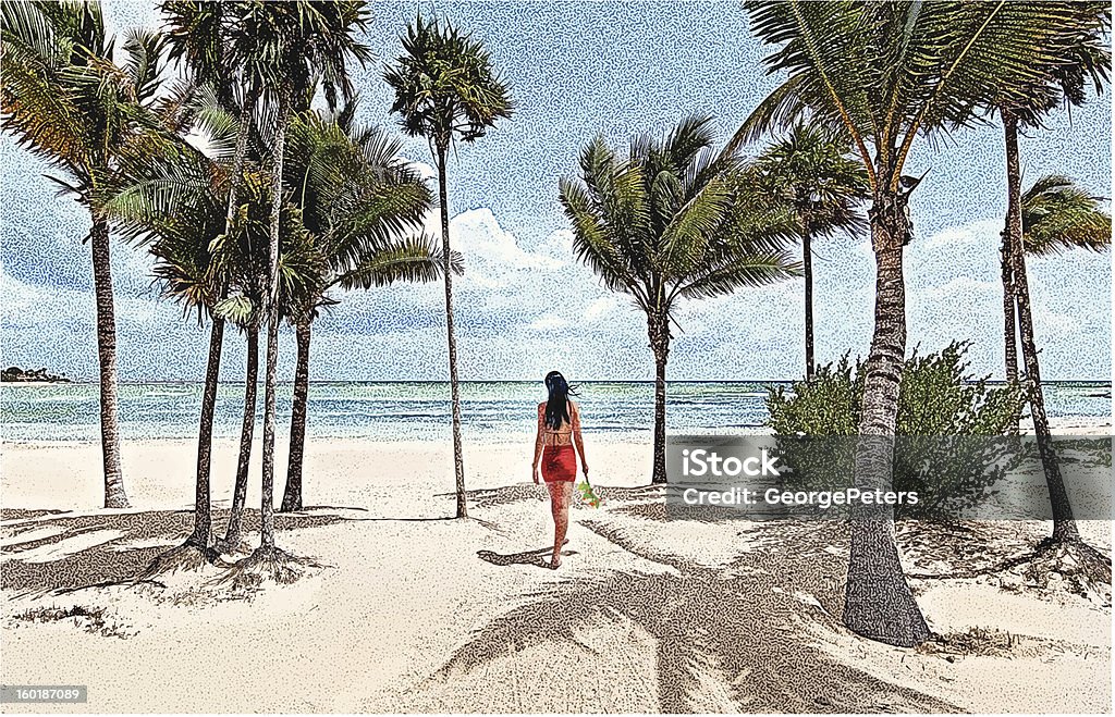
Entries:
[[483, 46], [462, 35], [449, 22], [421, 16], [403, 38], [405, 55], [388, 67], [384, 79], [395, 90], [391, 111], [401, 115], [408, 135], [425, 137], [437, 168], [442, 206], [442, 258], [445, 262], [445, 323], [449, 345], [449, 391], [453, 401], [453, 465], [456, 475], [457, 518], [466, 518], [465, 462], [460, 444], [460, 386], [457, 381], [457, 340], [453, 326], [453, 272], [449, 266], [449, 146], [457, 139], [472, 143], [496, 120], [511, 117], [510, 88], [492, 69]]

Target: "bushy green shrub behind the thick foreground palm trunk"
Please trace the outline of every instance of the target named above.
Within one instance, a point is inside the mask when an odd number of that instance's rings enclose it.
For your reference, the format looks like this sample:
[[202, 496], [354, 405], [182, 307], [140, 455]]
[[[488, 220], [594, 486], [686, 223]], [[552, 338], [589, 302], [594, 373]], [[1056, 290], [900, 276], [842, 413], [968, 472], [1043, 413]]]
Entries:
[[[954, 518], [995, 495], [995, 484], [1021, 460], [1017, 441], [1006, 436], [1024, 392], [969, 375], [968, 346], [953, 342], [927, 356], [914, 351], [903, 365], [891, 490], [917, 491], [919, 502], [895, 505], [898, 518]], [[852, 365], [845, 355], [821, 366], [812, 382], [769, 391], [767, 425], [778, 436], [787, 488], [852, 485], [863, 382], [862, 362]]]

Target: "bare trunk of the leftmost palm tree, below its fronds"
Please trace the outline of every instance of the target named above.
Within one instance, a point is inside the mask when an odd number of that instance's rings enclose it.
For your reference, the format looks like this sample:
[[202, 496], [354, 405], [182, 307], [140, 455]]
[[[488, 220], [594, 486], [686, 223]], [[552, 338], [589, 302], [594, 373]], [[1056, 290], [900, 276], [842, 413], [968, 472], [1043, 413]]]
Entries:
[[97, 360], [100, 364], [100, 454], [105, 468], [105, 508], [129, 508], [120, 470], [120, 429], [116, 407], [116, 312], [108, 220], [93, 216], [93, 285], [97, 298]]

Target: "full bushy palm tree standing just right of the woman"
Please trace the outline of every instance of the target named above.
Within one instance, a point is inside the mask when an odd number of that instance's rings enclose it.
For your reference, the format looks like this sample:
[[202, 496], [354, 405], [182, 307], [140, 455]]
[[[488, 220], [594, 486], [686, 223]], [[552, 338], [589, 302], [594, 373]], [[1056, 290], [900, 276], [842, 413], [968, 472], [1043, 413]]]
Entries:
[[655, 483], [666, 482], [666, 364], [679, 299], [798, 275], [782, 249], [797, 236], [795, 217], [748, 185], [735, 155], [712, 151], [710, 121], [690, 117], [661, 139], [638, 137], [626, 159], [598, 137], [581, 151], [581, 181], [559, 186], [578, 257], [647, 314]]

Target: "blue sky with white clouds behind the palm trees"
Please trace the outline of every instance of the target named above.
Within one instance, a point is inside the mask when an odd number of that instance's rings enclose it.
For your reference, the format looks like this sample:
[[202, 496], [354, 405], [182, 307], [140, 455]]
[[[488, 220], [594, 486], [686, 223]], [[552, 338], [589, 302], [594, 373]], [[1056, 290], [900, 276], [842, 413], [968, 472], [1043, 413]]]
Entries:
[[[106, 2], [113, 27], [158, 22], [154, 3]], [[466, 261], [456, 286], [460, 374], [466, 380], [652, 377], [646, 323], [623, 295], [599, 286], [573, 259], [558, 203], [561, 176], [593, 135], [623, 146], [708, 114], [721, 140], [777, 84], [739, 3], [377, 2], [366, 41], [377, 56], [355, 71], [361, 118], [394, 125], [382, 62], [417, 8], [483, 40], [513, 88], [517, 110], [450, 161], [450, 236]], [[1067, 174], [1111, 196], [1109, 95], [1061, 114], [1022, 139], [1028, 185]], [[998, 233], [1005, 210], [1001, 130], [964, 130], [920, 143], [908, 171], [927, 179], [911, 203], [908, 247], [910, 345], [973, 342], [972, 370], [1000, 376]], [[406, 156], [427, 165], [421, 140]], [[0, 361], [96, 376], [88, 220], [41, 177], [45, 165], [0, 137], [4, 166]], [[436, 232], [436, 226], [430, 225]], [[201, 379], [207, 332], [156, 299], [151, 262], [114, 247], [119, 370], [124, 380]], [[873, 259], [865, 237], [816, 247], [816, 343], [822, 362], [870, 342]], [[1109, 380], [1111, 256], [1070, 253], [1031, 262], [1043, 373]], [[673, 379], [789, 379], [803, 371], [802, 282], [682, 305], [670, 355]], [[442, 292], [400, 286], [340, 296], [314, 330], [311, 379], [438, 380], [447, 376]], [[282, 337], [281, 377], [293, 372]], [[242, 341], [229, 341], [222, 371], [235, 380]]]

